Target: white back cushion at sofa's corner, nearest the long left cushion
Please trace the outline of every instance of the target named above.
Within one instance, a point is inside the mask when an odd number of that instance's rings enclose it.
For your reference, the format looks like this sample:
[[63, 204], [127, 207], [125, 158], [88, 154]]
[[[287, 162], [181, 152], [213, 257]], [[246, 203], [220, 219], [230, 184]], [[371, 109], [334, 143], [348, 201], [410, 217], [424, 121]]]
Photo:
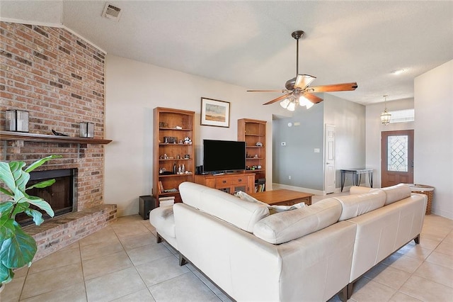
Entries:
[[340, 203], [327, 198], [311, 206], [265, 217], [256, 223], [253, 235], [280, 244], [326, 228], [336, 223], [340, 214]]

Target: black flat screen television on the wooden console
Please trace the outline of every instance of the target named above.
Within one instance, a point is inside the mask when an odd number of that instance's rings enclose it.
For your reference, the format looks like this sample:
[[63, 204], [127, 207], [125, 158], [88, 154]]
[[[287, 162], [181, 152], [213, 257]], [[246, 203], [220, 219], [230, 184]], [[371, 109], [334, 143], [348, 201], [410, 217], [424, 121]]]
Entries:
[[234, 172], [246, 169], [246, 142], [203, 140], [203, 172]]

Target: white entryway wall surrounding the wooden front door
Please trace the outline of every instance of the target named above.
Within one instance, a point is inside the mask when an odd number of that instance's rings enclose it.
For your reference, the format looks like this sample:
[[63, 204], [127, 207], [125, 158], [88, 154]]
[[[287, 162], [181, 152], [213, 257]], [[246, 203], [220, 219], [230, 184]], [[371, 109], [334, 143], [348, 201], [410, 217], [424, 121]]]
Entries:
[[[387, 111], [403, 110], [414, 108], [413, 99], [401, 99], [397, 101], [387, 101]], [[381, 113], [384, 111], [384, 102], [368, 105], [366, 107], [366, 166], [373, 169], [373, 186], [381, 187], [381, 133], [382, 131], [394, 130], [412, 130], [413, 122], [406, 123], [389, 123], [382, 125]], [[415, 109], [417, 110], [417, 109]], [[415, 136], [417, 133], [415, 133]], [[414, 169], [417, 169], [417, 163], [414, 163]]]

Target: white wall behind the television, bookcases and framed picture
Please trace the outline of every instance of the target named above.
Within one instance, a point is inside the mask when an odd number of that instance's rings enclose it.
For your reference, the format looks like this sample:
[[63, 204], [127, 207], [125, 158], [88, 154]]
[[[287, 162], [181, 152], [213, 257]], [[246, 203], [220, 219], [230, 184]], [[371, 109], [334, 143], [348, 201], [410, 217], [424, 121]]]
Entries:
[[[248, 87], [251, 88], [251, 87]], [[278, 104], [263, 106], [277, 95], [247, 93], [245, 87], [196, 77], [122, 57], [108, 55], [105, 72], [105, 203], [116, 203], [118, 216], [138, 213], [138, 197], [152, 188], [153, 108], [195, 111], [195, 150], [201, 164], [202, 139], [237, 140], [237, 120], [268, 122], [272, 144], [272, 115], [286, 114]], [[229, 101], [230, 127], [200, 126], [201, 97]], [[272, 148], [268, 152], [266, 186], [272, 184]]]

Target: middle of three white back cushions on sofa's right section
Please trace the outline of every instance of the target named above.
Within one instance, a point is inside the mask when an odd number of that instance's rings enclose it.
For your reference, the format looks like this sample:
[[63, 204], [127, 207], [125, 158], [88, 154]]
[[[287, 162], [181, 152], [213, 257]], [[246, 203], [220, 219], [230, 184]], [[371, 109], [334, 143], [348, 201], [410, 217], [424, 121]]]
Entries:
[[369, 211], [382, 208], [385, 203], [386, 195], [380, 189], [372, 189], [365, 194], [354, 194], [333, 197], [340, 201], [343, 211], [338, 220], [346, 220], [355, 216], [360, 216]]

